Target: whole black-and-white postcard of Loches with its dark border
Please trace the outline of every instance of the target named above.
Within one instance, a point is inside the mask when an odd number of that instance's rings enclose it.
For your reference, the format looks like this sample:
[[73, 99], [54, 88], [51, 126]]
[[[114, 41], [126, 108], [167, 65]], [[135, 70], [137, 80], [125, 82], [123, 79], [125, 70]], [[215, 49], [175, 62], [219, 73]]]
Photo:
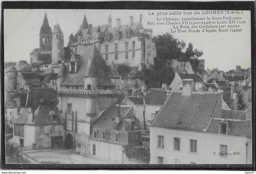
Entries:
[[5, 167], [252, 166], [254, 10], [155, 5], [3, 9]]

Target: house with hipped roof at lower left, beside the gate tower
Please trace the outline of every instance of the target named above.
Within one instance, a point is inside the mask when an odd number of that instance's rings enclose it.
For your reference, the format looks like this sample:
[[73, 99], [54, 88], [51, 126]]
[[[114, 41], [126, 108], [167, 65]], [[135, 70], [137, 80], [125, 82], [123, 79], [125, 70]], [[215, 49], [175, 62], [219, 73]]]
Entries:
[[34, 113], [13, 122], [12, 141], [23, 150], [60, 148], [63, 147], [63, 137], [63, 119], [55, 106], [40, 103]]

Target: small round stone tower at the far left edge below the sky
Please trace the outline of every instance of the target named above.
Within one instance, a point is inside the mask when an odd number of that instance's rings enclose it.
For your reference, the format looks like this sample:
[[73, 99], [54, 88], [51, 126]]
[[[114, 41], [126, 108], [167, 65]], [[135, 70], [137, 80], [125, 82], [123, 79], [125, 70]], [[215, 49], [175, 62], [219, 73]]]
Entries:
[[16, 68], [14, 66], [11, 66], [6, 71], [7, 77], [5, 77], [5, 83], [9, 87], [9, 90], [15, 90], [17, 89], [17, 74], [16, 74]]

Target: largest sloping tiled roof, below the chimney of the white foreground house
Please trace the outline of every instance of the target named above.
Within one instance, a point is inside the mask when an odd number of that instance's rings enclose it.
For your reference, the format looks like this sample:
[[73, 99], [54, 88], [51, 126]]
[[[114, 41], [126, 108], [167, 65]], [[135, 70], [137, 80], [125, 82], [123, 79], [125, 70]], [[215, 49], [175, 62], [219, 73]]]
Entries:
[[[181, 92], [172, 92], [166, 103], [155, 117], [152, 127], [176, 130], [203, 131], [220, 100], [217, 92], [193, 92], [183, 96]], [[221, 117], [215, 113], [213, 117]]]

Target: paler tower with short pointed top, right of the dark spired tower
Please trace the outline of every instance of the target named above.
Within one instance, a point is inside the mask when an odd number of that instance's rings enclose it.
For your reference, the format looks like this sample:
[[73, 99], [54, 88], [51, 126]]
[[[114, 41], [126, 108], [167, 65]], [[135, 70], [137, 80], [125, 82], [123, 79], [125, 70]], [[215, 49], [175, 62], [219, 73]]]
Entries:
[[64, 36], [59, 24], [52, 32], [52, 64], [60, 64], [64, 57]]

